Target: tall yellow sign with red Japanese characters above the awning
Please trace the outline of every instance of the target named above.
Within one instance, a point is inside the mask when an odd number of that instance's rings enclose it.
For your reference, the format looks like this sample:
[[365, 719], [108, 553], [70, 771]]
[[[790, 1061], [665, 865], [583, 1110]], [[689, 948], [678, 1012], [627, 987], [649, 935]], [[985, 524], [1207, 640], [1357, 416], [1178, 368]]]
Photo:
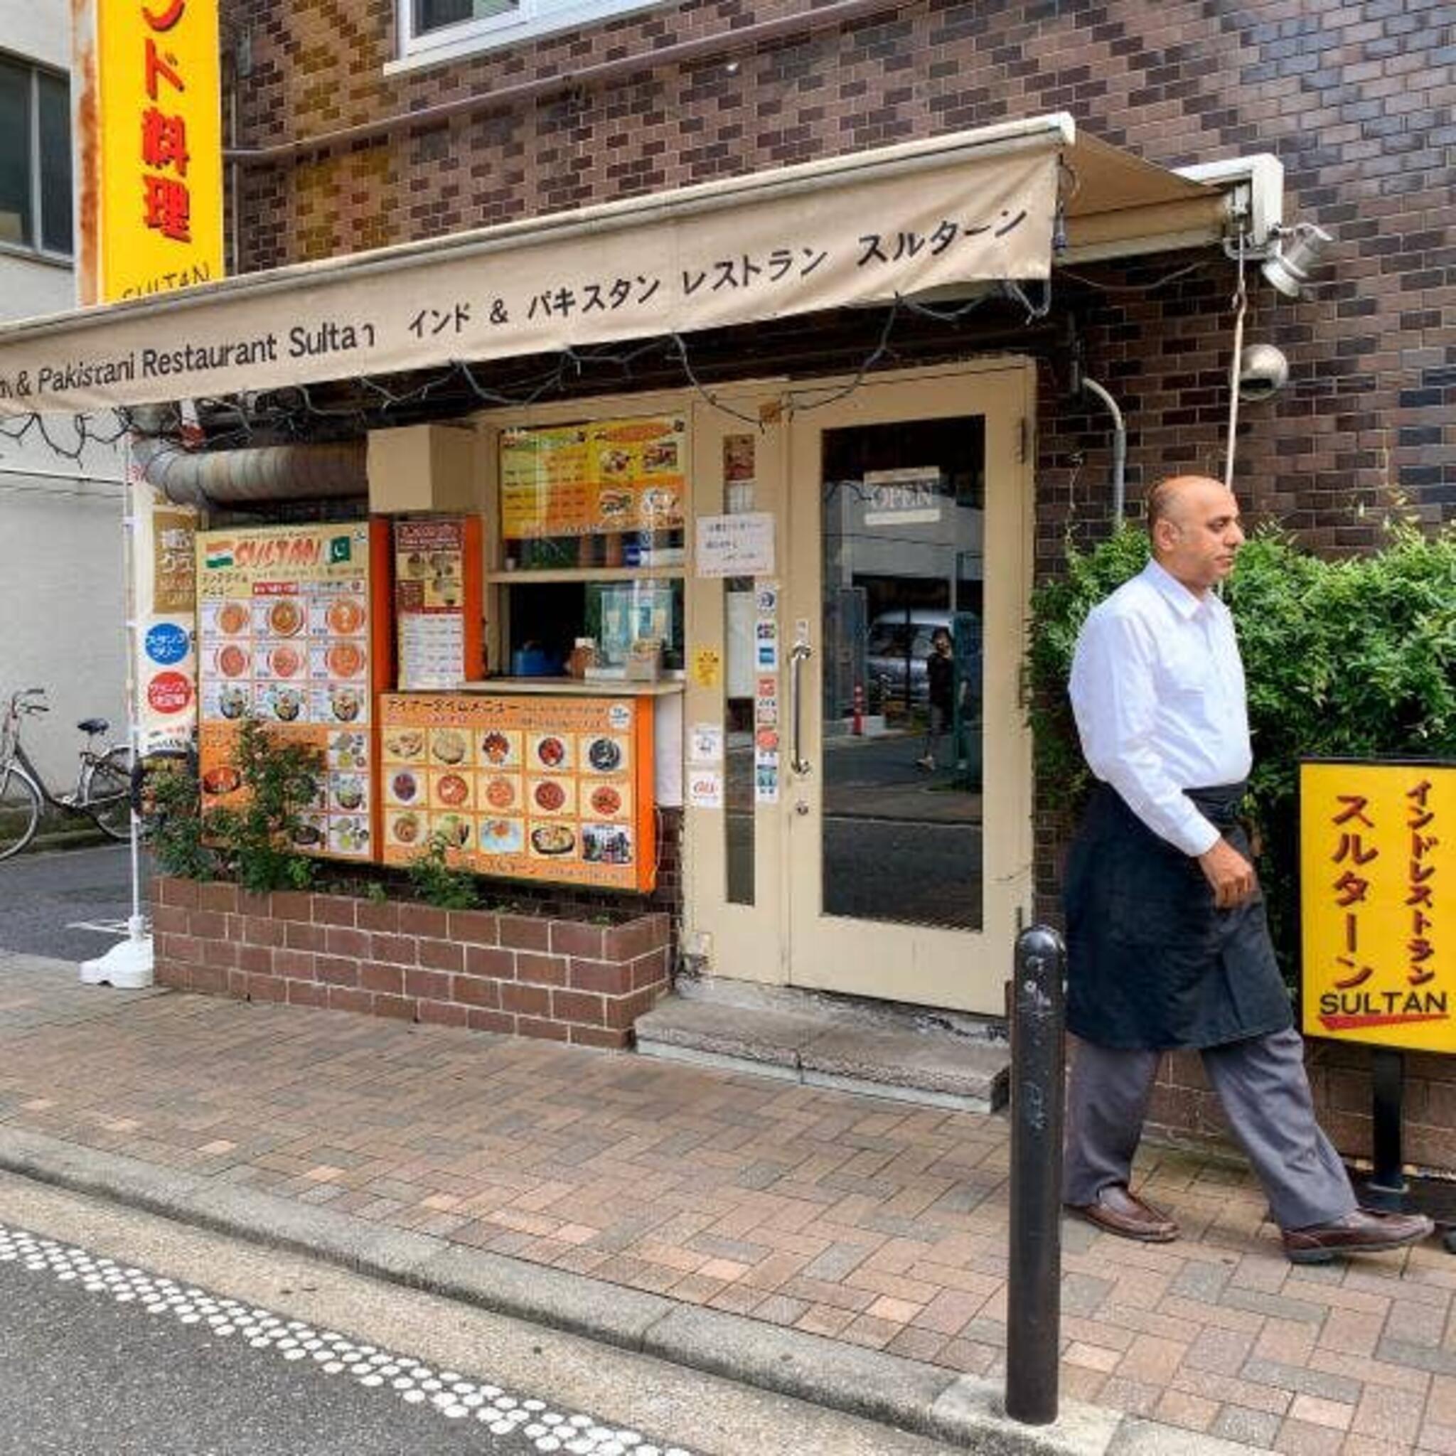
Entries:
[[80, 301], [221, 278], [217, 0], [86, 0], [82, 9]]

